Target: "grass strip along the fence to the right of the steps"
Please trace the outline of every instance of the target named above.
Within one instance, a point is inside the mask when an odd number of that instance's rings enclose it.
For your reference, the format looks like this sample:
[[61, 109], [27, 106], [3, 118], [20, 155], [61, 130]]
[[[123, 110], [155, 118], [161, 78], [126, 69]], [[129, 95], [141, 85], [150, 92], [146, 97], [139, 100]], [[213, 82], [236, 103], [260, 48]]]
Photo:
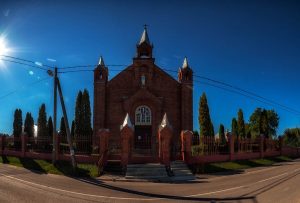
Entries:
[[243, 169], [271, 166], [274, 163], [291, 161], [292, 158], [286, 156], [270, 157], [264, 159], [239, 160], [220, 163], [209, 163], [192, 167], [195, 173], [217, 173], [217, 172], [239, 172]]

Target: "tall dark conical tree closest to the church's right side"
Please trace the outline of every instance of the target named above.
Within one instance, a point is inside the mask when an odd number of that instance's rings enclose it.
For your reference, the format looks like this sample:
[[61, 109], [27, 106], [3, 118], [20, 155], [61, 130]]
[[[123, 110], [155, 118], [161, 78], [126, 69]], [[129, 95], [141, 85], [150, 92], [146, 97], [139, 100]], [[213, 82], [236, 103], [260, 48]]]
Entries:
[[212, 134], [212, 123], [209, 115], [209, 108], [207, 104], [207, 99], [205, 93], [202, 94], [199, 101], [199, 126], [200, 126], [200, 136], [214, 136]]

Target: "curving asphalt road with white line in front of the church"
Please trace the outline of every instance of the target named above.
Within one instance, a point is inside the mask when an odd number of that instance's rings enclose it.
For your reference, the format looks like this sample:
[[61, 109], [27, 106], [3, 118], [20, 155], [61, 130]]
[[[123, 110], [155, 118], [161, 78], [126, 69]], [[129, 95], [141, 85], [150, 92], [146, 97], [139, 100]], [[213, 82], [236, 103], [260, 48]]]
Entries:
[[0, 164], [0, 202], [300, 202], [300, 160], [195, 183], [112, 182]]

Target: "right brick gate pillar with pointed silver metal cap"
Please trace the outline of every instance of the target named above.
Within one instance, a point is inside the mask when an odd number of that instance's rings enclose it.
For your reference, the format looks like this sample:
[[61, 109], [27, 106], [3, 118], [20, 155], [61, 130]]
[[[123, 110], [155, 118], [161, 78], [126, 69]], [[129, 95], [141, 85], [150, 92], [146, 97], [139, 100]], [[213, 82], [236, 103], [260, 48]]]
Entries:
[[171, 140], [173, 137], [173, 130], [165, 113], [163, 120], [159, 126], [158, 140], [159, 140], [159, 155], [160, 162], [165, 166], [170, 166]]

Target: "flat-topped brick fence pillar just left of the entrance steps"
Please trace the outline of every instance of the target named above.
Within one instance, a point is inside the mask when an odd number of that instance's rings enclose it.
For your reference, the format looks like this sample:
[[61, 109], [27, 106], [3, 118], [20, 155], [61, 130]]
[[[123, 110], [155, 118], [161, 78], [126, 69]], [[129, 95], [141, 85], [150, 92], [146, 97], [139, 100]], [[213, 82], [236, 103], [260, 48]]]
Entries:
[[[110, 135], [110, 132], [108, 129], [100, 129], [97, 132], [97, 136], [100, 139], [99, 156], [103, 156], [102, 163], [98, 163], [98, 164], [101, 164], [103, 167], [106, 166], [106, 163], [107, 163], [109, 135]], [[99, 157], [99, 158], [101, 158], [101, 157]]]

